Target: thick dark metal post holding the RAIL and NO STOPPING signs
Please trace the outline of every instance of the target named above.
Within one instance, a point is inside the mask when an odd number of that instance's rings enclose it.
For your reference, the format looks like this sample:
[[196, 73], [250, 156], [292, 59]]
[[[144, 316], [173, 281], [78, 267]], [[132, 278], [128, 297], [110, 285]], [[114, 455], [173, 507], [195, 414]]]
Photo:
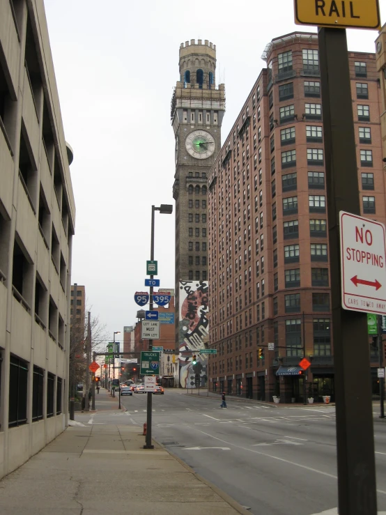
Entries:
[[339, 213], [346, 211], [360, 215], [346, 30], [319, 29], [318, 41], [334, 339], [338, 511], [339, 515], [376, 515], [376, 466], [367, 316], [365, 312], [342, 308], [339, 266]]

